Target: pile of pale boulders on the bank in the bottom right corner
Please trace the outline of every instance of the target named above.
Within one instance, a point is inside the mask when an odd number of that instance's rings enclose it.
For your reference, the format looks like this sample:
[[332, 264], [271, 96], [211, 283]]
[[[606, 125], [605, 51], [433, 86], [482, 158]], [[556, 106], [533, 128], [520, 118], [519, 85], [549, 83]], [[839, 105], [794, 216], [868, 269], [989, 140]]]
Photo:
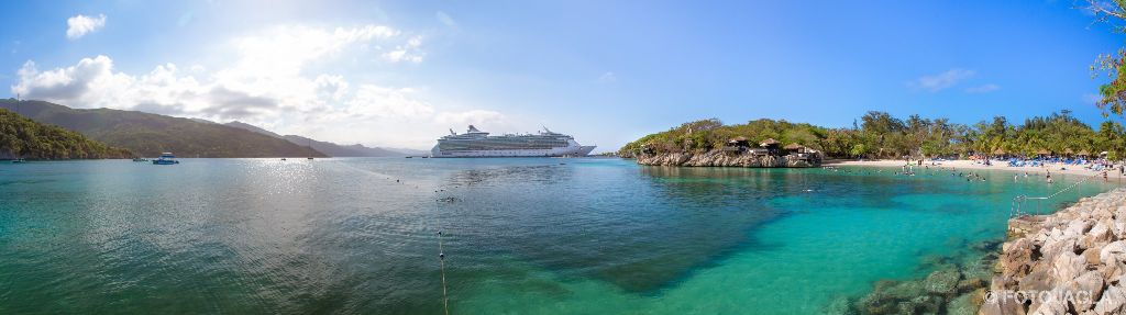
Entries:
[[1126, 189], [1009, 220], [978, 314], [1126, 314]]

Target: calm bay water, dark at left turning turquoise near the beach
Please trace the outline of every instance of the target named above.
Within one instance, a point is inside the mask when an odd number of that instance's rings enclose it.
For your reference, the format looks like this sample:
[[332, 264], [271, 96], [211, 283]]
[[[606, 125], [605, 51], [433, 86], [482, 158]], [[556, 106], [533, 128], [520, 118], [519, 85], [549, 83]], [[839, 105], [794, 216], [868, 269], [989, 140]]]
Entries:
[[[1076, 180], [846, 170], [0, 164], [0, 314], [439, 314], [439, 224], [454, 314], [819, 314], [1000, 240], [1013, 196]], [[1114, 187], [1090, 181], [1045, 208]]]

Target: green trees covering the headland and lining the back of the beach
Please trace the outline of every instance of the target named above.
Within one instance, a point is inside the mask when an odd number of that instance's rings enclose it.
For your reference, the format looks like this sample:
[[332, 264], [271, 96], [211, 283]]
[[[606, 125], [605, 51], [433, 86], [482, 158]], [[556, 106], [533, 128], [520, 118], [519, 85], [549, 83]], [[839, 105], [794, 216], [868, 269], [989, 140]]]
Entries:
[[774, 119], [724, 125], [713, 118], [644, 136], [623, 146], [618, 155], [706, 152], [718, 150], [736, 137], [745, 137], [751, 143], [767, 138], [784, 145], [796, 143], [830, 158], [1097, 155], [1103, 151], [1112, 160], [1126, 158], [1126, 132], [1120, 124], [1107, 120], [1096, 129], [1069, 110], [1031, 117], [1022, 123], [997, 116], [973, 125], [919, 115], [901, 119], [884, 111], [868, 111], [846, 128]]

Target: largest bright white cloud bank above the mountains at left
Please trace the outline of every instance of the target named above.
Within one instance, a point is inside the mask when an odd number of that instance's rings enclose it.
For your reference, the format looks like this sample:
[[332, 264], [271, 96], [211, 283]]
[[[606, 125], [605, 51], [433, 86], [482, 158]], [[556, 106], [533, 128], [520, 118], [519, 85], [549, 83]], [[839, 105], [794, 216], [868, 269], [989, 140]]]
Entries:
[[422, 62], [421, 36], [375, 25], [279, 26], [225, 43], [227, 55], [234, 56], [229, 62], [182, 70], [168, 63], [148, 73], [120, 72], [104, 55], [54, 69], [28, 61], [11, 91], [78, 108], [238, 119], [280, 134], [368, 145], [422, 148], [449, 127], [513, 127], [497, 111], [435, 104], [422, 87], [354, 81], [330, 72], [355, 68], [357, 62], [365, 69]]

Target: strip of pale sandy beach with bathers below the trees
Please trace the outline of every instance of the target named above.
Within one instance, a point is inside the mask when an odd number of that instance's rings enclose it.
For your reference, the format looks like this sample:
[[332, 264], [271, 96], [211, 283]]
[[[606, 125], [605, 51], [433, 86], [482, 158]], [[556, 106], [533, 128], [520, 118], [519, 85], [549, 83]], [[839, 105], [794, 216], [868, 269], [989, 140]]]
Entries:
[[[918, 164], [917, 164], [918, 161], [910, 161], [909, 162], [909, 161], [905, 161], [905, 160], [870, 160], [870, 161], [848, 161], [848, 160], [841, 160], [841, 161], [826, 161], [822, 165], [824, 165], [824, 166], [860, 165], [860, 166], [895, 166], [895, 168], [897, 168], [897, 166], [905, 165], [908, 163], [911, 163], [912, 165], [915, 165], [915, 168], [919, 168]], [[997, 161], [993, 162], [993, 165], [984, 165], [984, 164], [976, 163], [976, 162], [969, 161], [969, 160], [951, 160], [951, 161], [941, 161], [941, 162], [923, 161], [923, 165], [929, 165], [930, 168], [935, 168], [936, 165], [932, 165], [931, 163], [937, 164], [937, 166], [939, 166], [939, 168], [946, 168], [946, 169], [954, 168], [956, 170], [1002, 170], [1002, 171], [1012, 171], [1012, 172], [1020, 172], [1020, 173], [1028, 172], [1028, 174], [1030, 174], [1030, 176], [1031, 174], [1044, 176], [1044, 173], [1047, 172], [1047, 171], [1051, 171], [1053, 174], [1056, 174], [1056, 173], [1060, 173], [1060, 174], [1075, 174], [1075, 176], [1097, 176], [1097, 174], [1101, 174], [1101, 172], [1097, 172], [1097, 171], [1092, 171], [1092, 170], [1089, 170], [1089, 169], [1084, 169], [1081, 165], [1047, 164], [1047, 165], [1044, 165], [1044, 166], [1009, 166], [1009, 165], [1007, 165], [1007, 164], [1004, 164], [1002, 162], [997, 162]], [[1119, 171], [1118, 171], [1117, 166], [1115, 169], [1110, 170], [1110, 172], [1107, 173], [1107, 177], [1108, 177], [1108, 179], [1112, 179], [1112, 180], [1118, 180], [1118, 179], [1123, 178], [1123, 176], [1119, 174]]]

